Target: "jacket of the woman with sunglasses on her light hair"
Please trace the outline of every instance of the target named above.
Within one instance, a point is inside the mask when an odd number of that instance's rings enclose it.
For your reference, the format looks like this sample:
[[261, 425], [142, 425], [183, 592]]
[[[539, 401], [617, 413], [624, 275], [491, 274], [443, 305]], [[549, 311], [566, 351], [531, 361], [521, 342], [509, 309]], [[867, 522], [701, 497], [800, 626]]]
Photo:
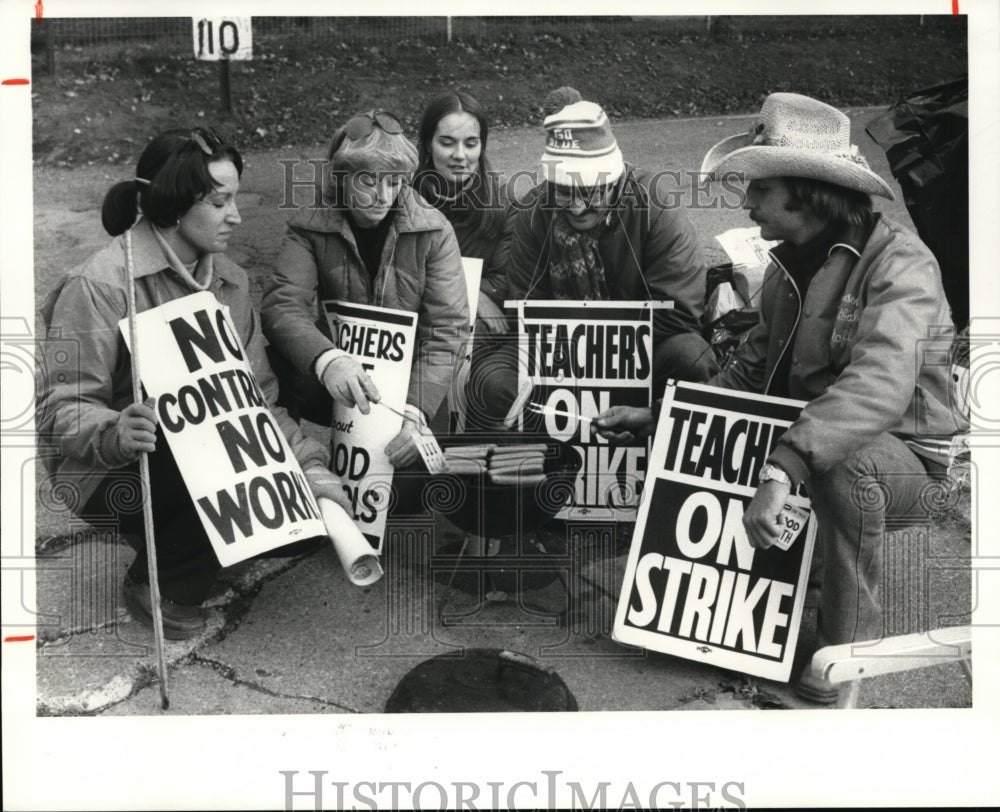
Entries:
[[264, 332], [302, 373], [335, 345], [320, 308], [340, 300], [418, 314], [407, 402], [428, 418], [451, 386], [469, 333], [469, 303], [455, 232], [444, 216], [404, 186], [374, 282], [344, 209], [297, 212], [261, 304]]

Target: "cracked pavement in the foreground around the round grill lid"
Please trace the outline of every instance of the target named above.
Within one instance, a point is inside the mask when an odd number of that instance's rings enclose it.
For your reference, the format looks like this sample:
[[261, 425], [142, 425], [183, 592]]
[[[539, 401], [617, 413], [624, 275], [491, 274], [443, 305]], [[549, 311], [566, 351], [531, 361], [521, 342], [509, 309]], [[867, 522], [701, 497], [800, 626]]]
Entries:
[[[446, 519], [429, 516], [416, 533], [412, 522], [390, 523], [386, 575], [364, 588], [347, 581], [332, 546], [223, 570], [206, 604], [205, 632], [166, 643], [166, 713], [381, 713], [418, 663], [478, 648], [520, 652], [553, 669], [583, 711], [817, 707], [784, 683], [612, 641], [627, 528], [560, 547], [568, 534], [556, 522], [542, 531], [546, 548], [557, 551], [551, 559], [466, 556], [456, 572], [461, 535]], [[933, 544], [960, 541], [934, 528], [929, 536]], [[960, 552], [948, 551], [949, 560]], [[121, 605], [132, 556], [113, 533], [82, 524], [42, 545], [38, 715], [164, 713], [152, 631]], [[545, 570], [546, 561], [554, 568]], [[514, 570], [521, 562], [520, 579], [498, 562], [514, 562]], [[945, 586], [935, 598], [938, 617], [969, 606], [967, 578]], [[807, 604], [806, 645], [814, 623]], [[867, 680], [860, 705], [969, 707], [971, 690], [949, 663]]]

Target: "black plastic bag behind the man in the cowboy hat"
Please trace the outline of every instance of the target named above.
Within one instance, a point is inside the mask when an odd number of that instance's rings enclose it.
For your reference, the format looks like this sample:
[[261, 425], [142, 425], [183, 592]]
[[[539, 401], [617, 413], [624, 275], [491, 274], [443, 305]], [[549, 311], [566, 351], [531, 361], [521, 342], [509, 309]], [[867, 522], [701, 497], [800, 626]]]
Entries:
[[904, 96], [866, 132], [885, 151], [917, 233], [941, 266], [962, 330], [969, 322], [968, 77]]

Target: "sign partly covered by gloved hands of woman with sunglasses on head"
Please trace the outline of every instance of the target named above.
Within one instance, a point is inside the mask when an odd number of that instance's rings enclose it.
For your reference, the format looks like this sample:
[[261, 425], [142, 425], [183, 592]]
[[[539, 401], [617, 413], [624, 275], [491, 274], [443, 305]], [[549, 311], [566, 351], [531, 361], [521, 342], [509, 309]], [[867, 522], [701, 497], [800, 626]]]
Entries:
[[387, 307], [323, 302], [334, 343], [356, 358], [378, 387], [381, 403], [362, 414], [356, 407], [333, 406], [330, 467], [347, 488], [361, 532], [376, 550], [392, 495], [393, 466], [385, 447], [399, 434], [413, 366], [417, 314]]

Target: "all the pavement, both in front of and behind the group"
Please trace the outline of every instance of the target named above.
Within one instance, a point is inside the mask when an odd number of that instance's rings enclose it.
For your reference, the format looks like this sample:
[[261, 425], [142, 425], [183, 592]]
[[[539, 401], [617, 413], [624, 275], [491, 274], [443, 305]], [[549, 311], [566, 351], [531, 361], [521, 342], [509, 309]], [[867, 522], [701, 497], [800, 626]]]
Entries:
[[[873, 112], [852, 113], [852, 140], [865, 144], [873, 168], [889, 177], [885, 157], [867, 146], [862, 131]], [[718, 139], [723, 124], [727, 132], [743, 126], [740, 120], [716, 119], [620, 122], [615, 132], [637, 164], [684, 168], [700, 165], [705, 145]], [[509, 174], [534, 166], [538, 137], [524, 128], [491, 133], [496, 168]], [[274, 212], [284, 182], [280, 160], [296, 156], [307, 159], [312, 151], [296, 148], [245, 156], [240, 194], [244, 222], [230, 256], [247, 268], [255, 296], [284, 229], [284, 216]], [[82, 257], [104, 244], [95, 224], [104, 192], [118, 179], [103, 167], [80, 167], [72, 173], [36, 167], [38, 302], [72, 264], [68, 251]], [[910, 222], [900, 200], [882, 208], [897, 221]], [[713, 235], [746, 224], [741, 213], [733, 211], [691, 209], [690, 216], [710, 261], [722, 258]], [[25, 602], [36, 619], [36, 712], [163, 713], [152, 632], [134, 623], [121, 603], [121, 580], [132, 560], [131, 549], [113, 529], [82, 525], [60, 511], [46, 497], [51, 489], [46, 489], [44, 474], [38, 477], [38, 482], [20, 483], [25, 509], [30, 510], [33, 497], [37, 500], [34, 537], [21, 541], [24, 555], [31, 555], [32, 546], [38, 550], [36, 601]], [[935, 525], [929, 534], [909, 540], [900, 536], [895, 552], [887, 554], [887, 581], [905, 586], [913, 602], [909, 607], [893, 605], [893, 633], [969, 621], [968, 562], [974, 551], [967, 496], [963, 511], [963, 527]], [[568, 589], [558, 578], [538, 573], [524, 574], [524, 589], [512, 583], [509, 572], [488, 583], [475, 561], [468, 562], [471, 570], [455, 575], [449, 588], [455, 556], [447, 552], [460, 544], [458, 531], [432, 516], [415, 525], [391, 527], [386, 575], [370, 588], [352, 586], [330, 548], [294, 559], [245, 562], [223, 571], [208, 603], [204, 634], [166, 644], [171, 698], [167, 713], [380, 713], [411, 668], [460, 647], [510, 649], [534, 657], [560, 675], [582, 711], [816, 707], [794, 697], [787, 684], [613, 642], [611, 620], [626, 557], [626, 525], [613, 526], [612, 537], [591, 542], [570, 538], [569, 544], [564, 526], [543, 531], [546, 549], [571, 550], [568, 557], [557, 556]], [[497, 566], [491, 561], [487, 568]], [[805, 642], [814, 624], [807, 605]], [[866, 680], [861, 688], [862, 707], [971, 703], [971, 690], [956, 663]]]

